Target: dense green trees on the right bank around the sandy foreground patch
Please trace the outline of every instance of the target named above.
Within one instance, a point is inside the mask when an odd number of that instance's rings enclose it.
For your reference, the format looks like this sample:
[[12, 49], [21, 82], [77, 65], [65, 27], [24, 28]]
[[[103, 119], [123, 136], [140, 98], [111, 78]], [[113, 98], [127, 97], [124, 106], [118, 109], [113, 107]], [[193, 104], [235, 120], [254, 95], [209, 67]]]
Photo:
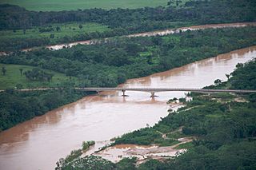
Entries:
[[[215, 88], [255, 89], [256, 60], [238, 64], [227, 82]], [[245, 77], [246, 75], [246, 77]], [[236, 84], [237, 81], [240, 84]], [[161, 144], [159, 132], [174, 132], [182, 127], [179, 136], [196, 136], [181, 156], [164, 162], [148, 160], [135, 167], [136, 158], [121, 160], [114, 164], [98, 156], [86, 156], [62, 161], [61, 169], [255, 169], [256, 168], [256, 103], [255, 95], [217, 93], [204, 95], [192, 93], [193, 101], [162, 118], [157, 125], [127, 133], [114, 144]], [[236, 97], [244, 101], [235, 101]], [[190, 108], [190, 109], [189, 109]], [[173, 133], [170, 133], [174, 136]], [[160, 137], [159, 137], [160, 136]], [[90, 162], [90, 164], [87, 164]], [[104, 166], [102, 166], [104, 165]], [[103, 168], [104, 167], [104, 168]]]

